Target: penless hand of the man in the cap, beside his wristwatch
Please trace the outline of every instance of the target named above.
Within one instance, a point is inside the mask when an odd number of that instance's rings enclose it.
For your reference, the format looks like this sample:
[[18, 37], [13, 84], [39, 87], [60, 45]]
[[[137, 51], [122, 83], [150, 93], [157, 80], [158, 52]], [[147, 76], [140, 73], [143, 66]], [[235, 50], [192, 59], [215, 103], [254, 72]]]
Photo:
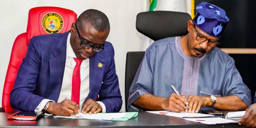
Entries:
[[189, 112], [189, 113], [199, 112], [202, 106], [206, 106], [208, 100], [209, 100], [209, 97], [189, 95], [187, 101], [189, 102], [190, 109], [186, 109], [185, 112]]

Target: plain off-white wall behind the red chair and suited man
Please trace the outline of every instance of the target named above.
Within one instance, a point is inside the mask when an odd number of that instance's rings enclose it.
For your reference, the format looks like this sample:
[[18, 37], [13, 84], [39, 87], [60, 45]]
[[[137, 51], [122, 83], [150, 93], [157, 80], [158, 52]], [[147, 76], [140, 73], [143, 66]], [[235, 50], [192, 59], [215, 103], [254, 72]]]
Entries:
[[115, 49], [116, 71], [123, 97], [121, 111], [125, 111], [125, 60], [128, 51], [138, 51], [142, 34], [135, 28], [136, 15], [148, 10], [149, 0], [1, 0], [0, 4], [0, 106], [2, 90], [10, 52], [15, 38], [26, 32], [28, 11], [33, 7], [55, 6], [71, 9], [78, 16], [86, 9], [104, 12], [110, 21], [111, 31], [107, 41]]

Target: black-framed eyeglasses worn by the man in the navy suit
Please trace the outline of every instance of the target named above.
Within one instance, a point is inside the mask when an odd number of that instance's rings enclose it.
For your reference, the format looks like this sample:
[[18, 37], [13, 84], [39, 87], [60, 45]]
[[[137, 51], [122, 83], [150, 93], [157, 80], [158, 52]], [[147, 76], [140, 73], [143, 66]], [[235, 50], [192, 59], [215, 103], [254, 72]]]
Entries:
[[[76, 24], [74, 24], [75, 26], [76, 26]], [[80, 38], [80, 46], [81, 47], [83, 47], [83, 48], [90, 48], [90, 47], [92, 47], [92, 50], [93, 51], [95, 51], [95, 52], [100, 52], [100, 51], [102, 51], [103, 49], [104, 49], [104, 44], [101, 44], [101, 45], [99, 45], [99, 46], [93, 46], [93, 45], [91, 45], [90, 43], [87, 43], [87, 42], [84, 42], [83, 40], [82, 40], [82, 38], [81, 38], [81, 36], [80, 36], [80, 33], [79, 33], [79, 31], [78, 31], [78, 28], [77, 28], [77, 26], [76, 26], [76, 31], [77, 31], [77, 34], [78, 34], [78, 36], [79, 36], [79, 38]]]

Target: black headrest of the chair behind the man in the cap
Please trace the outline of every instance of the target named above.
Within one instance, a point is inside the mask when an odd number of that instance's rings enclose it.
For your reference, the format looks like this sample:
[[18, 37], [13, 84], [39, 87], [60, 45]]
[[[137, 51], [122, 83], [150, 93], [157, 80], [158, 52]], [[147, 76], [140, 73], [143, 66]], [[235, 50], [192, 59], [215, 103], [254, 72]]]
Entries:
[[136, 29], [156, 41], [167, 37], [186, 35], [189, 20], [191, 20], [191, 16], [184, 12], [141, 12], [136, 18]]

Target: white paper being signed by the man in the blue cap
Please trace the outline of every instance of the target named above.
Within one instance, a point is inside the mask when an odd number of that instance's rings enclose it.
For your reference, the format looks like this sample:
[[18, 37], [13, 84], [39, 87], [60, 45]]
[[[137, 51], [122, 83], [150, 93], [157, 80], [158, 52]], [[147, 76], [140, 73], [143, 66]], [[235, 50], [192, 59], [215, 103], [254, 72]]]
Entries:
[[179, 118], [184, 117], [206, 117], [206, 116], [214, 116], [210, 114], [201, 114], [201, 113], [188, 113], [188, 112], [169, 112], [169, 111], [146, 111], [154, 114], [161, 114], [161, 115], [167, 115], [167, 116], [175, 116]]

